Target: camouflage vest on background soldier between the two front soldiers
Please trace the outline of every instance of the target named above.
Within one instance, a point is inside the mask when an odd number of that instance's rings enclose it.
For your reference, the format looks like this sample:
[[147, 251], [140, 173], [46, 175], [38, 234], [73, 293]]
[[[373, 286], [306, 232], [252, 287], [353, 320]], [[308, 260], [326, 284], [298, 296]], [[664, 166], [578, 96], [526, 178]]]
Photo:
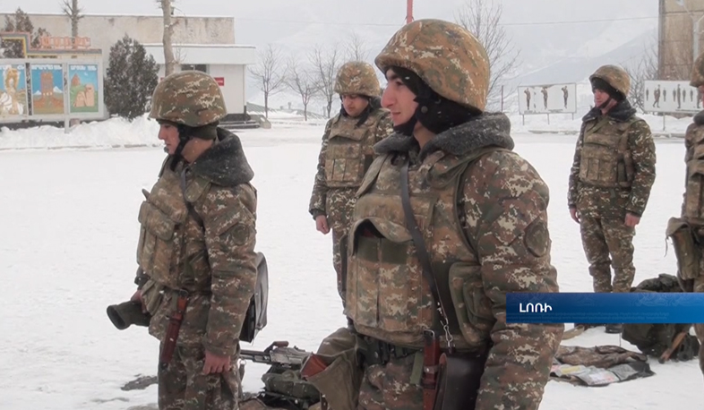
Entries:
[[337, 115], [332, 122], [325, 156], [325, 181], [329, 188], [357, 188], [372, 163], [374, 132], [382, 110], [369, 115], [357, 126], [359, 118]]

